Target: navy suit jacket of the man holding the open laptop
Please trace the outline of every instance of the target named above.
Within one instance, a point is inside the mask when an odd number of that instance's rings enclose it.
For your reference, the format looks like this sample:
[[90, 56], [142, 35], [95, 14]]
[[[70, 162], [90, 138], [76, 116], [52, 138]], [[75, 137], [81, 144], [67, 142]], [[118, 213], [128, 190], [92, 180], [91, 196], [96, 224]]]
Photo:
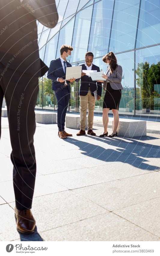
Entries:
[[[72, 66], [67, 61], [66, 61], [66, 64], [67, 64], [67, 67]], [[65, 82], [63, 82], [63, 83], [57, 82], [58, 77], [62, 77], [63, 79], [65, 79], [65, 72], [63, 70], [62, 62], [61, 62], [60, 58], [52, 60], [50, 62], [50, 68], [48, 70], [47, 77], [52, 80], [52, 90], [54, 90], [54, 91], [57, 90], [57, 92], [59, 91], [58, 89], [62, 90], [62, 86], [64, 86]], [[70, 82], [69, 81], [66, 81], [66, 82], [68, 84], [68, 90], [69, 90], [69, 92], [71, 92]]]

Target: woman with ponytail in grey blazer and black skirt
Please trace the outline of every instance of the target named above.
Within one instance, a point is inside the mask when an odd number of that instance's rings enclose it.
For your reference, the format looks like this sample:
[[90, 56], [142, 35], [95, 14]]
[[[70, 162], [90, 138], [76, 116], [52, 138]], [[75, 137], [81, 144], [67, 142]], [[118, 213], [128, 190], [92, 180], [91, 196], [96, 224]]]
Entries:
[[113, 117], [114, 117], [114, 126], [113, 132], [108, 137], [117, 136], [117, 126], [119, 122], [119, 103], [121, 100], [121, 89], [123, 89], [121, 80], [122, 80], [122, 67], [117, 64], [116, 56], [113, 52], [109, 52], [106, 54], [102, 60], [107, 64], [109, 63], [109, 68], [107, 68], [107, 72], [105, 75], [102, 75], [103, 78], [106, 79], [104, 82], [103, 88], [106, 90], [103, 102], [103, 126], [104, 133], [99, 137], [104, 137], [108, 135], [107, 127], [108, 127], [108, 112], [112, 109]]

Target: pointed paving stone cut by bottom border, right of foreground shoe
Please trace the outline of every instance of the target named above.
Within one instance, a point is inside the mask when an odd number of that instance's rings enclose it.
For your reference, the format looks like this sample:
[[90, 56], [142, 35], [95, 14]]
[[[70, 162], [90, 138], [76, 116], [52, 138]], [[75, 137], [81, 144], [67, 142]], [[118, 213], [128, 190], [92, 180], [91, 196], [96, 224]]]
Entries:
[[160, 241], [151, 233], [105, 213], [40, 234], [45, 241]]

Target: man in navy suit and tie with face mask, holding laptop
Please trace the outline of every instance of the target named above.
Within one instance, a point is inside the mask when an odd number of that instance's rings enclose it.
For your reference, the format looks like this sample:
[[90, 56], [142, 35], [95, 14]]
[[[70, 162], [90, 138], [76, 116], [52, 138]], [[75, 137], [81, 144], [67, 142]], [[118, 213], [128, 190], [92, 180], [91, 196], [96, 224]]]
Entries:
[[75, 79], [65, 80], [66, 68], [71, 67], [68, 62], [71, 59], [73, 48], [68, 45], [62, 45], [60, 49], [60, 58], [50, 62], [50, 69], [47, 77], [52, 80], [52, 89], [55, 91], [58, 109], [57, 109], [57, 125], [58, 136], [61, 139], [67, 139], [67, 136], [72, 136], [65, 131], [65, 116], [70, 99], [70, 83], [73, 84]]

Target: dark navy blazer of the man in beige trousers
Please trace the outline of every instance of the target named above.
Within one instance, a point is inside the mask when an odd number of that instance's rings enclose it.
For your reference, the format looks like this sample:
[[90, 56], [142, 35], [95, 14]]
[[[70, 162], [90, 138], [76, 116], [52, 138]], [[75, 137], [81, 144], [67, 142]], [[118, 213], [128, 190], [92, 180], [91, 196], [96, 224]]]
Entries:
[[[82, 66], [82, 70], [87, 70], [85, 64], [82, 64], [80, 66]], [[92, 70], [97, 70], [97, 72], [100, 72], [99, 67], [94, 64], [92, 64]], [[90, 87], [92, 96], [94, 96], [93, 92], [95, 90], [98, 90], [97, 94], [99, 96], [101, 96], [101, 94], [102, 94], [102, 83], [101, 82], [92, 81], [92, 78], [87, 75], [81, 77], [79, 95], [86, 96], [88, 93], [89, 87]]]

